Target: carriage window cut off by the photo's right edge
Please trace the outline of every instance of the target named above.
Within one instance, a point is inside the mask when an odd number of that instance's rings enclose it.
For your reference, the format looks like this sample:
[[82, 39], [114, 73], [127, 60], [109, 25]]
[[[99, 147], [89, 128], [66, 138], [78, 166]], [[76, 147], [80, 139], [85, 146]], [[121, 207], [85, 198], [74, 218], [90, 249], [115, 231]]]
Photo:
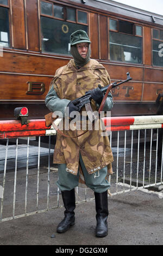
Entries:
[[154, 66], [163, 66], [163, 30], [153, 29], [152, 56]]

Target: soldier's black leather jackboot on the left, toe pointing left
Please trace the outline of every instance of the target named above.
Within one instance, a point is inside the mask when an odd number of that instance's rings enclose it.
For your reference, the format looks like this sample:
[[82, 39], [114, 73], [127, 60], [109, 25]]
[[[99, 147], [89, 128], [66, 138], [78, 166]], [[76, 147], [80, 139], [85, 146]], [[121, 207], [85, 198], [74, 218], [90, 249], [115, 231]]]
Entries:
[[74, 188], [70, 191], [61, 191], [61, 194], [66, 210], [64, 212], [64, 219], [59, 223], [57, 227], [58, 233], [66, 232], [75, 223], [74, 209], [76, 208], [76, 198]]

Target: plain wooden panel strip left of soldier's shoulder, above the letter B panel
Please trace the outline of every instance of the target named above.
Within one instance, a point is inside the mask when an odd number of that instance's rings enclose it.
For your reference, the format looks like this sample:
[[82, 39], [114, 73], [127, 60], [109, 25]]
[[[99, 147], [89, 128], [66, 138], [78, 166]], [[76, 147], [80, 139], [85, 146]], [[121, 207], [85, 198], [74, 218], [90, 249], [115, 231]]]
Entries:
[[68, 63], [68, 60], [64, 59], [13, 52], [4, 52], [1, 59], [1, 71], [37, 75], [54, 75], [60, 66]]

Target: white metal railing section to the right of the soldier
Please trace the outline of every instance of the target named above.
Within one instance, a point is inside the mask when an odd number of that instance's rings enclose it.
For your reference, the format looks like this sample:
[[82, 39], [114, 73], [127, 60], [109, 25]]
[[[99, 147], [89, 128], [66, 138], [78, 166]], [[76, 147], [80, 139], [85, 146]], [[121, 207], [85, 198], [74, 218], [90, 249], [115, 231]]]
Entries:
[[[137, 153], [133, 153], [133, 130], [131, 131], [131, 148], [130, 148], [130, 168], [128, 170], [128, 176], [129, 180], [127, 180], [128, 185], [126, 183], [126, 140], [127, 140], [127, 131], [124, 133], [124, 151], [123, 151], [123, 182], [118, 182], [118, 175], [119, 175], [119, 131], [117, 132], [117, 159], [116, 159], [116, 191], [112, 193], [118, 194], [122, 192], [128, 192], [131, 190], [141, 190], [142, 188], [149, 188], [153, 186], [158, 186], [162, 184], [162, 158], [163, 155], [161, 155], [161, 166], [158, 167], [158, 142], [159, 142], [159, 137], [158, 137], [158, 129], [156, 129], [156, 139], [153, 140], [153, 129], [150, 129], [150, 137], [148, 137], [148, 146], [146, 145], [146, 139], [147, 139], [147, 130], [144, 131], [144, 141], [143, 143], [140, 143], [140, 131], [137, 130]], [[148, 132], [149, 134], [149, 132]], [[149, 141], [150, 139], [150, 141]], [[162, 138], [161, 138], [162, 139]], [[143, 156], [143, 159], [140, 160], [140, 144], [141, 147], [143, 145], [143, 151], [141, 150], [141, 154]], [[152, 148], [152, 144], [155, 144]], [[147, 152], [147, 147], [148, 147], [148, 152]], [[163, 150], [163, 143], [161, 141], [161, 150]], [[153, 158], [152, 158], [152, 153], [153, 153]], [[134, 164], [133, 167], [133, 154], [136, 154], [136, 164]], [[141, 157], [142, 158], [142, 157]], [[152, 167], [152, 162], [153, 162], [153, 167]], [[142, 167], [140, 167], [140, 163], [143, 164]], [[141, 165], [142, 165], [141, 164]], [[148, 164], [148, 170], [146, 170], [146, 164]], [[155, 166], [154, 166], [155, 165]], [[133, 168], [134, 168], [134, 178], [132, 177], [133, 175]], [[142, 169], [142, 172], [140, 174], [140, 169]], [[148, 171], [148, 177], [145, 179], [145, 173]], [[135, 182], [135, 186], [132, 185], [132, 182]], [[147, 181], [146, 181], [147, 180]], [[118, 190], [118, 187], [121, 186], [123, 187], [122, 190]], [[125, 188], [128, 187], [127, 190]]]

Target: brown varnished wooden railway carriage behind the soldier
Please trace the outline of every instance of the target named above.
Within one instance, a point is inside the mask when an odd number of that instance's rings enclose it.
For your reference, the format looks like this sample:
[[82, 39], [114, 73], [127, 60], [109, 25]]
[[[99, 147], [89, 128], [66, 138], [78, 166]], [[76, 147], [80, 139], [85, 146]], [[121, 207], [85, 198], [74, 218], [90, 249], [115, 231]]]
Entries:
[[0, 118], [14, 119], [26, 106], [29, 118], [48, 113], [45, 96], [55, 71], [66, 65], [70, 34], [86, 31], [91, 58], [111, 81], [112, 116], [156, 114], [163, 93], [163, 16], [102, 0], [0, 0]]

